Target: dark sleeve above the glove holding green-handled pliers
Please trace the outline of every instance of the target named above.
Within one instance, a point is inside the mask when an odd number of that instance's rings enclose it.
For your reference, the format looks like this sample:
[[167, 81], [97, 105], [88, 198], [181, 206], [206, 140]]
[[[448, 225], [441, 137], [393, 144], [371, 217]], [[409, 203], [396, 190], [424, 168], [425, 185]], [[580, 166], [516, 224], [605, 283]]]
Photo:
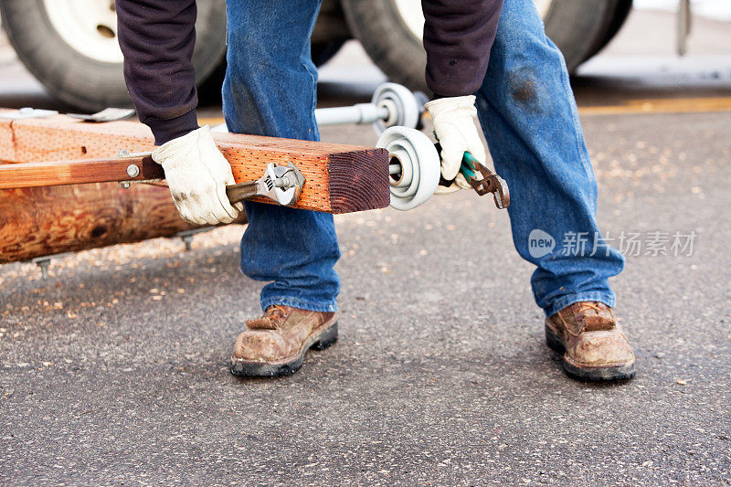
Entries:
[[503, 0], [421, 0], [427, 86], [440, 96], [471, 95], [482, 85]]

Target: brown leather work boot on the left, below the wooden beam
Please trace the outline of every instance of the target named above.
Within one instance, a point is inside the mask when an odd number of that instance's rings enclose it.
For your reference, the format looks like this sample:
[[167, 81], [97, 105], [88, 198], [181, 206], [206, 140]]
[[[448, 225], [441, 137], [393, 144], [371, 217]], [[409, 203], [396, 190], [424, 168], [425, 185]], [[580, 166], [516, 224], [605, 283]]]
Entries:
[[309, 312], [270, 306], [261, 318], [247, 320], [231, 356], [234, 376], [289, 376], [310, 349], [324, 350], [337, 340], [334, 312]]

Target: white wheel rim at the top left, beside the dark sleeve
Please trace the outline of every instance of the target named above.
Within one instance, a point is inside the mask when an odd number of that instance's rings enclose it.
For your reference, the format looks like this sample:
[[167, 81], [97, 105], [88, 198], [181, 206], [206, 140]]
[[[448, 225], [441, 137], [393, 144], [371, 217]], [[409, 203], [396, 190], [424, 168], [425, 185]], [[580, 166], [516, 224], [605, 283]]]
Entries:
[[71, 48], [100, 62], [121, 63], [113, 0], [44, 0], [51, 26]]

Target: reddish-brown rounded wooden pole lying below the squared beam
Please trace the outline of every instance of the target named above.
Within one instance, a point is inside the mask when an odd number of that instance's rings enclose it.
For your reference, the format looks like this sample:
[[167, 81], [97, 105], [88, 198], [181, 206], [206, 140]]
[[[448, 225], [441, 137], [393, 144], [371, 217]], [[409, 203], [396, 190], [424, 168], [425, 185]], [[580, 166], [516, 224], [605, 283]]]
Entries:
[[[241, 212], [237, 223], [245, 223]], [[117, 183], [0, 190], [0, 263], [93, 249], [197, 228], [165, 186]]]

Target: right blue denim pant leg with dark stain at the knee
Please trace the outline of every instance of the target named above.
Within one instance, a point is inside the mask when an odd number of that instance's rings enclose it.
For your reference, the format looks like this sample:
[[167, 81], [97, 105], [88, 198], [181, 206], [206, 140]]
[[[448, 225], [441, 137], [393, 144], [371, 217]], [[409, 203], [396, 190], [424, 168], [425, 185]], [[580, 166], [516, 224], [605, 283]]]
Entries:
[[532, 0], [504, 1], [476, 95], [495, 169], [510, 186], [515, 249], [537, 266], [535, 302], [546, 315], [579, 301], [613, 306], [608, 279], [624, 259], [599, 234], [597, 181], [566, 64]]

